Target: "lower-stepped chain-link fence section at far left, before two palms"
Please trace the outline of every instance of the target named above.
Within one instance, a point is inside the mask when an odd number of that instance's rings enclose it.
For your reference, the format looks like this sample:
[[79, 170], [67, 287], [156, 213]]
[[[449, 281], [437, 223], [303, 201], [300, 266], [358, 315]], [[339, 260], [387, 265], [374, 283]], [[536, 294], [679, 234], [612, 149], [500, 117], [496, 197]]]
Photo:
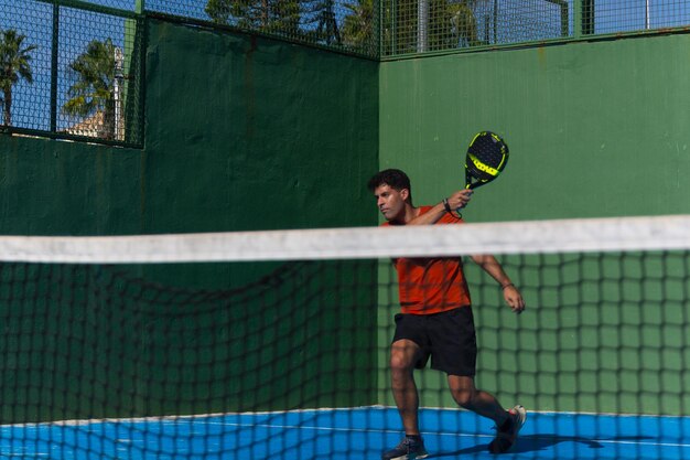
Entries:
[[141, 33], [133, 12], [0, 0], [1, 129], [142, 143]]

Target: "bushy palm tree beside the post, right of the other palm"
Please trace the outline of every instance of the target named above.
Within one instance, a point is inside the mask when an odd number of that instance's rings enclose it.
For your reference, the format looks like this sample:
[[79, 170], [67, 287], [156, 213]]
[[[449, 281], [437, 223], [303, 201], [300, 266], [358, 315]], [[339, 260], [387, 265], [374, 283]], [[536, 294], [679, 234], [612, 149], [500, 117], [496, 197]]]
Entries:
[[98, 137], [115, 138], [115, 78], [116, 50], [110, 39], [93, 40], [86, 51], [71, 64], [75, 83], [67, 89], [69, 99], [63, 111], [69, 116], [89, 117], [103, 115]]

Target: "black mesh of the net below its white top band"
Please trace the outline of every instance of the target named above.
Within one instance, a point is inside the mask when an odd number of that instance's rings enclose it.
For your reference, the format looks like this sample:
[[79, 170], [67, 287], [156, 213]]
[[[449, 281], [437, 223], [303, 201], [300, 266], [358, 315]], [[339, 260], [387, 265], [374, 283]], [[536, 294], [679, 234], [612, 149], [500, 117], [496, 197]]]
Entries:
[[[475, 383], [527, 408], [511, 458], [688, 458], [689, 253], [499, 259], [520, 315], [470, 257], [464, 275]], [[0, 454], [379, 458], [405, 434], [399, 311], [385, 258], [2, 264]], [[443, 372], [413, 375], [427, 451], [488, 458], [494, 420], [460, 408]]]

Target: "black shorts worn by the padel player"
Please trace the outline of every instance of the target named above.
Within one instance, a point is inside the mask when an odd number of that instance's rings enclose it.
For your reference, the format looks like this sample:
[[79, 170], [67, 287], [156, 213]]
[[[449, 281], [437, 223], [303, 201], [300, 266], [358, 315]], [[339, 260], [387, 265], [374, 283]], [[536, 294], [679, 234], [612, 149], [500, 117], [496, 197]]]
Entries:
[[474, 377], [477, 340], [471, 307], [434, 314], [396, 314], [392, 341], [408, 339], [417, 343], [422, 356], [414, 367], [423, 368], [431, 356], [431, 368], [449, 375]]

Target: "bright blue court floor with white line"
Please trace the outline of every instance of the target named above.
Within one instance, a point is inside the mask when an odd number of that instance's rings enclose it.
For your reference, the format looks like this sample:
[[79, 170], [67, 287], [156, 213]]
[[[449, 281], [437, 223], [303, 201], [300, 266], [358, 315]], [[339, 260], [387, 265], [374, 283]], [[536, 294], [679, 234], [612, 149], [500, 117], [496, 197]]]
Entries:
[[[690, 459], [690, 417], [529, 413], [509, 453], [487, 452], [493, 424], [422, 409], [430, 459]], [[392, 408], [319, 409], [0, 426], [0, 458], [379, 459], [401, 439]]]

